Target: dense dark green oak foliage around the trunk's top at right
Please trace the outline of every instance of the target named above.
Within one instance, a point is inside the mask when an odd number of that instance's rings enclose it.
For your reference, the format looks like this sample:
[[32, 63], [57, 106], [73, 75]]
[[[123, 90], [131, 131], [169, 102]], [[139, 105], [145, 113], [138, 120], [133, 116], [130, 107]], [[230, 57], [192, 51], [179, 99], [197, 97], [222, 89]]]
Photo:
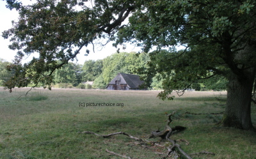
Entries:
[[[150, 72], [163, 75], [162, 99], [173, 89], [216, 75], [227, 79], [234, 73], [244, 79], [255, 67], [253, 8], [253, 1], [147, 1], [118, 32], [116, 44], [135, 39], [145, 52], [157, 47]], [[186, 49], [177, 51], [173, 45]]]

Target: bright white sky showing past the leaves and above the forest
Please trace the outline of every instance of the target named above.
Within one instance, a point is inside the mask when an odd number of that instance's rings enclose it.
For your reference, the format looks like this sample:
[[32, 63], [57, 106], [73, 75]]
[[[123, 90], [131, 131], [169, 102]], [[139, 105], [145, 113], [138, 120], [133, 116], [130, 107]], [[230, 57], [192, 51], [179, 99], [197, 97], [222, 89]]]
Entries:
[[[29, 1], [28, 1], [29, 2]], [[22, 1], [24, 4], [25, 1]], [[5, 30], [8, 30], [12, 27], [12, 20], [17, 20], [19, 17], [19, 13], [13, 9], [12, 11], [5, 7], [6, 2], [0, 0], [0, 34], [2, 35], [2, 32]], [[77, 63], [83, 64], [84, 61], [93, 59], [104, 59], [107, 56], [110, 56], [111, 54], [114, 54], [116, 52], [116, 48], [112, 46], [113, 42], [108, 43], [105, 47], [97, 47], [95, 46], [95, 52], [92, 50], [92, 45], [88, 46], [88, 50], [90, 50], [90, 54], [88, 56], [84, 56], [86, 53], [86, 48], [81, 50], [80, 54], [77, 55]], [[0, 36], [0, 58], [5, 59], [6, 61], [12, 62], [12, 59], [14, 59], [14, 56], [16, 55], [17, 50], [10, 50], [8, 48], [8, 45], [10, 45], [10, 40], [4, 39], [2, 36]], [[122, 47], [120, 48], [120, 52], [139, 52], [141, 49], [140, 47], [134, 47], [131, 45], [127, 45], [127, 48], [125, 50], [122, 50]], [[26, 63], [32, 59], [32, 57], [38, 57], [38, 55], [31, 54], [28, 58], [24, 58], [25, 60], [23, 63]], [[76, 62], [76, 61], [74, 61]]]

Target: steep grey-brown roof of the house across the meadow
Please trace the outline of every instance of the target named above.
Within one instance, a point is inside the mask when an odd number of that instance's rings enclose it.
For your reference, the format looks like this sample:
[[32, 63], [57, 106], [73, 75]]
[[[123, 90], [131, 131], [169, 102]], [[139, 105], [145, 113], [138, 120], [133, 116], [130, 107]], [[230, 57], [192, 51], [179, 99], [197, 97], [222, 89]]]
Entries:
[[118, 75], [116, 75], [109, 84], [115, 84], [116, 80], [120, 80], [120, 84], [127, 84], [130, 88], [137, 88], [144, 83], [143, 80], [140, 80], [138, 75], [131, 75], [127, 73], [118, 73]]

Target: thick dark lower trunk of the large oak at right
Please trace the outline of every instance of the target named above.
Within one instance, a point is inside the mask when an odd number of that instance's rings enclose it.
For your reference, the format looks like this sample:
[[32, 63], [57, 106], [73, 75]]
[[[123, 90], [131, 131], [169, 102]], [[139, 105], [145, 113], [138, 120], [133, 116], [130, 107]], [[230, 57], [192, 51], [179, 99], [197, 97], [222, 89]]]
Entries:
[[234, 73], [230, 73], [227, 90], [227, 107], [221, 125], [255, 131], [251, 120], [251, 98], [253, 79], [255, 77], [254, 69], [252, 72], [244, 73], [246, 77], [242, 78]]

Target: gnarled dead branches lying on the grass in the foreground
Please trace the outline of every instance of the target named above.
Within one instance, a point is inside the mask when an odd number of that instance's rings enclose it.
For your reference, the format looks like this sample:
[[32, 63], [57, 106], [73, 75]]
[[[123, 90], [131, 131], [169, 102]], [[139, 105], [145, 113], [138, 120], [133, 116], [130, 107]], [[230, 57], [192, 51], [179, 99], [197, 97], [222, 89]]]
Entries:
[[[93, 135], [97, 135], [97, 136], [100, 136], [100, 137], [111, 137], [113, 135], [118, 135], [118, 134], [122, 134], [122, 135], [126, 135], [127, 137], [131, 138], [131, 139], [134, 139], [134, 140], [137, 140], [139, 142], [136, 142], [135, 144], [140, 144], [141, 146], [145, 146], [146, 148], [148, 148], [148, 146], [159, 146], [161, 148], [167, 148], [168, 151], [167, 153], [158, 153], [159, 155], [165, 155], [163, 158], [168, 158], [169, 156], [172, 156], [172, 158], [179, 158], [180, 155], [184, 156], [185, 158], [188, 158], [188, 159], [191, 159], [191, 156], [189, 156], [187, 153], [185, 153], [182, 148], [180, 148], [180, 145], [177, 144], [176, 142], [186, 142], [186, 145], [189, 144], [188, 140], [184, 140], [184, 139], [178, 139], [178, 140], [172, 140], [170, 139], [170, 136], [172, 135], [172, 133], [174, 131], [182, 131], [182, 130], [185, 130], [186, 128], [183, 127], [183, 126], [175, 126], [174, 128], [171, 128], [169, 125], [170, 123], [172, 122], [172, 119], [171, 119], [171, 116], [175, 114], [175, 111], [170, 113], [170, 114], [167, 114], [168, 116], [168, 119], [166, 120], [167, 123], [166, 123], [166, 126], [164, 128], [164, 130], [162, 131], [154, 131], [154, 132], [151, 132], [151, 135], [149, 138], [152, 138], [152, 137], [161, 137], [162, 139], [165, 139], [165, 140], [168, 140], [169, 142], [172, 143], [172, 145], [166, 147], [166, 146], [162, 146], [161, 144], [157, 144], [157, 142], [151, 142], [151, 141], [148, 141], [146, 139], [139, 139], [137, 137], [133, 137], [132, 135], [129, 135], [128, 133], [125, 133], [125, 132], [116, 132], [116, 133], [109, 133], [108, 135], [99, 135], [97, 133], [94, 133], [94, 132], [89, 132], [89, 131], [86, 131], [86, 132], [79, 132], [79, 133], [91, 133]], [[106, 151], [108, 153], [111, 153], [112, 155], [116, 155], [116, 156], [122, 156], [124, 158], [131, 158], [130, 156], [125, 156], [125, 155], [120, 155], [118, 153], [115, 153], [113, 151], [109, 151], [108, 149], [106, 149]], [[211, 152], [207, 152], [207, 151], [201, 151], [200, 153], [192, 153], [190, 155], [199, 155], [199, 154], [209, 154], [209, 155], [214, 155], [214, 153], [211, 153]]]

